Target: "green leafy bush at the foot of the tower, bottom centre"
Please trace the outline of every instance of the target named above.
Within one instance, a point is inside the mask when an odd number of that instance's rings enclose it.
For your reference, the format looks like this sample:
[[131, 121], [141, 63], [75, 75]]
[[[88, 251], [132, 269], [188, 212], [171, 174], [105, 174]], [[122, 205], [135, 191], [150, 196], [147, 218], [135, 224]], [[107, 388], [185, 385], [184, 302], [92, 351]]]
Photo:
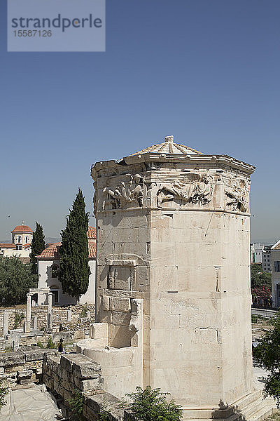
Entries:
[[172, 401], [167, 401], [167, 393], [160, 389], [136, 388], [137, 392], [127, 394], [131, 399], [128, 408], [136, 421], [179, 421], [183, 415], [181, 406]]

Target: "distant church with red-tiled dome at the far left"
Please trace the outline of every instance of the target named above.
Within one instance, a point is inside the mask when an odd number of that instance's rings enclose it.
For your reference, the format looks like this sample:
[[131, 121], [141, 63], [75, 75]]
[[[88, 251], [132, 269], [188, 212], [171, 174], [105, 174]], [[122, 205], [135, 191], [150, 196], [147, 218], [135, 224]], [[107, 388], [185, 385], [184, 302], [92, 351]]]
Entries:
[[3, 253], [3, 257], [18, 256], [19, 258], [29, 258], [33, 238], [32, 229], [22, 223], [22, 225], [15, 227], [11, 233], [11, 243], [0, 243], [0, 251]]

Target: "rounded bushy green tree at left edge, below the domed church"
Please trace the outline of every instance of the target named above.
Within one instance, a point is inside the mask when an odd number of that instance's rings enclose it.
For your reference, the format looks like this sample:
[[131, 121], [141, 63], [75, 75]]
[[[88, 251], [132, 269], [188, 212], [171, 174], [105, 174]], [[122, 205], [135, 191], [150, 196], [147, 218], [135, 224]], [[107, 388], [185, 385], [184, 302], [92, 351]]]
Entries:
[[16, 305], [26, 301], [29, 288], [36, 288], [38, 276], [31, 274], [31, 264], [19, 258], [0, 259], [0, 303]]

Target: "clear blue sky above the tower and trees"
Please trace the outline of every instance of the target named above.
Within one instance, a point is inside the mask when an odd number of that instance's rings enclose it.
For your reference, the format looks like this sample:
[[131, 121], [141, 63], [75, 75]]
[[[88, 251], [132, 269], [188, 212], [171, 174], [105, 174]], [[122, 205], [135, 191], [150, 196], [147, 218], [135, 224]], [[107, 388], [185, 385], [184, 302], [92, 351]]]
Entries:
[[107, 0], [106, 53], [7, 53], [0, 7], [0, 240], [58, 237], [91, 163], [165, 135], [255, 165], [251, 240], [280, 238], [279, 0]]

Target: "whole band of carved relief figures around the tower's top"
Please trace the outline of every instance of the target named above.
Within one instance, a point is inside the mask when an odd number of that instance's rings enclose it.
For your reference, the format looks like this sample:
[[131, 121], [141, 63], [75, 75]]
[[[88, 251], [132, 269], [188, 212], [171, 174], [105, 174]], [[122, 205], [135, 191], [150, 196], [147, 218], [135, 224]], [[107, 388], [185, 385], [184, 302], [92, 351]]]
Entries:
[[162, 208], [171, 202], [171, 206], [183, 208], [205, 206], [213, 199], [215, 185], [221, 183], [224, 185], [225, 208], [248, 212], [248, 180], [229, 174], [221, 178], [218, 172], [199, 170], [160, 171], [149, 180], [139, 173], [111, 178], [110, 184], [99, 187], [94, 193], [94, 212], [143, 206]]

